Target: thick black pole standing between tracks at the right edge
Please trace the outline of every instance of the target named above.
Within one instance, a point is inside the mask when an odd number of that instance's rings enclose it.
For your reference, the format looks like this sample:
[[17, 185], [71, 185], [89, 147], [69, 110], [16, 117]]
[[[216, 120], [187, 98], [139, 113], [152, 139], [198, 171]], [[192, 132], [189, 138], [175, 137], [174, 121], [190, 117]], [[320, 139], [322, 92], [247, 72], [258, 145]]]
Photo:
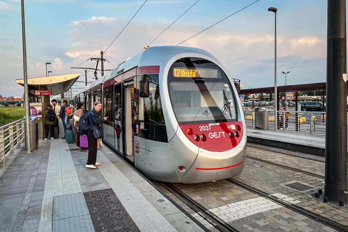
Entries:
[[327, 1], [325, 197], [347, 202], [346, 0]]

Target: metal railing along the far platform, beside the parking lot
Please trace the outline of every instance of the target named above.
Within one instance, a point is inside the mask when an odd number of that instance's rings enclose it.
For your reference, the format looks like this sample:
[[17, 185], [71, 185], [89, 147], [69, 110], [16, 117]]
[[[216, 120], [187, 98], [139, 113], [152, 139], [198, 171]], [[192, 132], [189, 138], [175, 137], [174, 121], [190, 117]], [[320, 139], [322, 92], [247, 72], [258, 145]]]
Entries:
[[[245, 124], [255, 126], [255, 111], [243, 113]], [[277, 115], [277, 129], [325, 134], [326, 112], [277, 111]], [[268, 128], [274, 129], [274, 110], [268, 111]]]

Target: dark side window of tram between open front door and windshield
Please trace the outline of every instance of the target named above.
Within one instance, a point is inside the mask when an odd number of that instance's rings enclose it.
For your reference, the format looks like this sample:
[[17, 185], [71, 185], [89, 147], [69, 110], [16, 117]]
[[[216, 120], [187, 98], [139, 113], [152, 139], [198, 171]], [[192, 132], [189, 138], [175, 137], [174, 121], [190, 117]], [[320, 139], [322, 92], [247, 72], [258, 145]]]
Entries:
[[[139, 97], [139, 81], [142, 79], [142, 75], [137, 76], [136, 83], [134, 83], [135, 111], [138, 115], [136, 125], [139, 127], [138, 136], [167, 143], [167, 130], [159, 96], [158, 74], [144, 75], [144, 80], [149, 81], [149, 97], [147, 98]], [[134, 129], [136, 131], [136, 128]]]

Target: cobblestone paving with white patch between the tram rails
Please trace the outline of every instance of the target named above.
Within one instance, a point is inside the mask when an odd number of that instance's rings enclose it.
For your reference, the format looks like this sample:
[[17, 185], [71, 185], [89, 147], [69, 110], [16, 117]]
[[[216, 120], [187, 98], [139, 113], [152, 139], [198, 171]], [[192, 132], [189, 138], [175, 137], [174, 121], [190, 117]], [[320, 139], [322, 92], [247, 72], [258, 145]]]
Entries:
[[[287, 152], [287, 151], [286, 151]], [[312, 173], [324, 175], [324, 163], [292, 157], [277, 152], [248, 147], [247, 155], [268, 160], [285, 166], [298, 168]], [[323, 159], [315, 155], [306, 155], [310, 158]], [[258, 178], [255, 178], [255, 177]], [[304, 209], [313, 211], [321, 216], [348, 225], [348, 213], [345, 207], [324, 204], [314, 199], [313, 194], [317, 189], [324, 190], [324, 179], [307, 174], [290, 171], [260, 161], [246, 159], [244, 171], [234, 179], [248, 184], [256, 189], [267, 192], [279, 199], [283, 199]], [[300, 182], [313, 188], [307, 191], [296, 191], [284, 186], [288, 182]], [[156, 184], [156, 182], [154, 182]], [[281, 185], [282, 184], [282, 185]], [[218, 231], [203, 216], [195, 213], [183, 202], [176, 198], [164, 187], [156, 184], [187, 210], [198, 221], [211, 231]], [[318, 223], [313, 219], [303, 216], [291, 209], [284, 208], [275, 202], [260, 197], [239, 186], [227, 181], [180, 184], [174, 183], [193, 200], [200, 203], [223, 221], [235, 227], [238, 231], [335, 231], [331, 227]]]

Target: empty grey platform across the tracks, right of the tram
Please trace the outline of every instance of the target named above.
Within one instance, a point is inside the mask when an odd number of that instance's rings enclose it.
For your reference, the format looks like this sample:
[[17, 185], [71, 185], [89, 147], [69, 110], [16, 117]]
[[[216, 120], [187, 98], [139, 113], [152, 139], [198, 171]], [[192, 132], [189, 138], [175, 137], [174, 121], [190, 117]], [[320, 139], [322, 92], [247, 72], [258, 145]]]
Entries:
[[325, 155], [325, 134], [293, 130], [255, 129], [247, 126], [248, 142], [274, 145], [296, 151]]

